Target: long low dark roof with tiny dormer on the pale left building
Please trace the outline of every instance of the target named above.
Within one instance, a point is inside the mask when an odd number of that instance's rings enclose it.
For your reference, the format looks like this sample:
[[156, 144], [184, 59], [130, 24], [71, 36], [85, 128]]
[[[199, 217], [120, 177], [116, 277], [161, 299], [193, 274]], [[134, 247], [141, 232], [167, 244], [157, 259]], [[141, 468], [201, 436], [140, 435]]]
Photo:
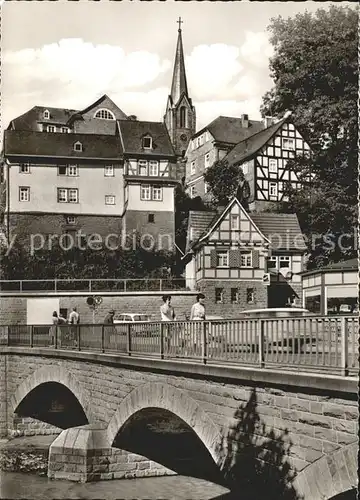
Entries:
[[[83, 146], [82, 151], [74, 151], [74, 144], [78, 141]], [[4, 155], [5, 157], [44, 156], [49, 158], [120, 159], [122, 148], [117, 136], [6, 130], [4, 134]]]

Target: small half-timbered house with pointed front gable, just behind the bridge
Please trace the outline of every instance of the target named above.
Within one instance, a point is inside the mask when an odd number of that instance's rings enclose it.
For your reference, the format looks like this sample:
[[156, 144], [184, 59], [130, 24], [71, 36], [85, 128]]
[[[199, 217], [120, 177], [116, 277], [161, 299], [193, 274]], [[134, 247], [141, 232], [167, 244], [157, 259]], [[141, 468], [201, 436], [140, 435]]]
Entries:
[[206, 295], [211, 314], [223, 317], [300, 304], [305, 250], [296, 215], [253, 217], [233, 198], [217, 212], [190, 212], [187, 284]]

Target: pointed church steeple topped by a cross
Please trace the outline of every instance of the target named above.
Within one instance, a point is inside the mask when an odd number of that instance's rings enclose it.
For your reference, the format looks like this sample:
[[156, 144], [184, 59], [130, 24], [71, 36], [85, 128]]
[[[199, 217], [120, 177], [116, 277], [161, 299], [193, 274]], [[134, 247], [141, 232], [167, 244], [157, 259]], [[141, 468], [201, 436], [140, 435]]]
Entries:
[[185, 156], [190, 137], [195, 133], [195, 108], [189, 97], [185, 58], [182, 43], [181, 24], [178, 19], [178, 39], [176, 45], [171, 93], [168, 97], [164, 121], [168, 129], [171, 142], [178, 156]]

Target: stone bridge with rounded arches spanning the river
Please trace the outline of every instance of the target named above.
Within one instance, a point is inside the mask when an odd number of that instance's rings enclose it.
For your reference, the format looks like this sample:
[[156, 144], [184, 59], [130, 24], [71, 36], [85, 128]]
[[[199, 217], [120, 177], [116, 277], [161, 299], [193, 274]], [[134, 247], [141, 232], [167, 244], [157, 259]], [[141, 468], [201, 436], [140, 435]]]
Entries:
[[338, 499], [356, 488], [355, 377], [0, 350], [1, 434], [57, 433], [49, 477], [181, 473], [242, 498], [271, 491], [266, 498], [292, 500]]

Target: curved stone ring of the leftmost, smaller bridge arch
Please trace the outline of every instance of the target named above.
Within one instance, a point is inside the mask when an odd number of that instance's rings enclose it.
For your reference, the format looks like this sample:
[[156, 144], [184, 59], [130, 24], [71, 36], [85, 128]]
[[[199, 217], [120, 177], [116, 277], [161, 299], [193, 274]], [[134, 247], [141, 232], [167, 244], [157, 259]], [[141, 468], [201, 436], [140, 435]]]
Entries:
[[90, 398], [84, 387], [81, 387], [75, 375], [60, 365], [43, 366], [29, 375], [17, 387], [10, 398], [10, 407], [15, 412], [23, 399], [41, 384], [55, 382], [65, 386], [79, 401], [89, 422], [95, 422], [90, 408]]

